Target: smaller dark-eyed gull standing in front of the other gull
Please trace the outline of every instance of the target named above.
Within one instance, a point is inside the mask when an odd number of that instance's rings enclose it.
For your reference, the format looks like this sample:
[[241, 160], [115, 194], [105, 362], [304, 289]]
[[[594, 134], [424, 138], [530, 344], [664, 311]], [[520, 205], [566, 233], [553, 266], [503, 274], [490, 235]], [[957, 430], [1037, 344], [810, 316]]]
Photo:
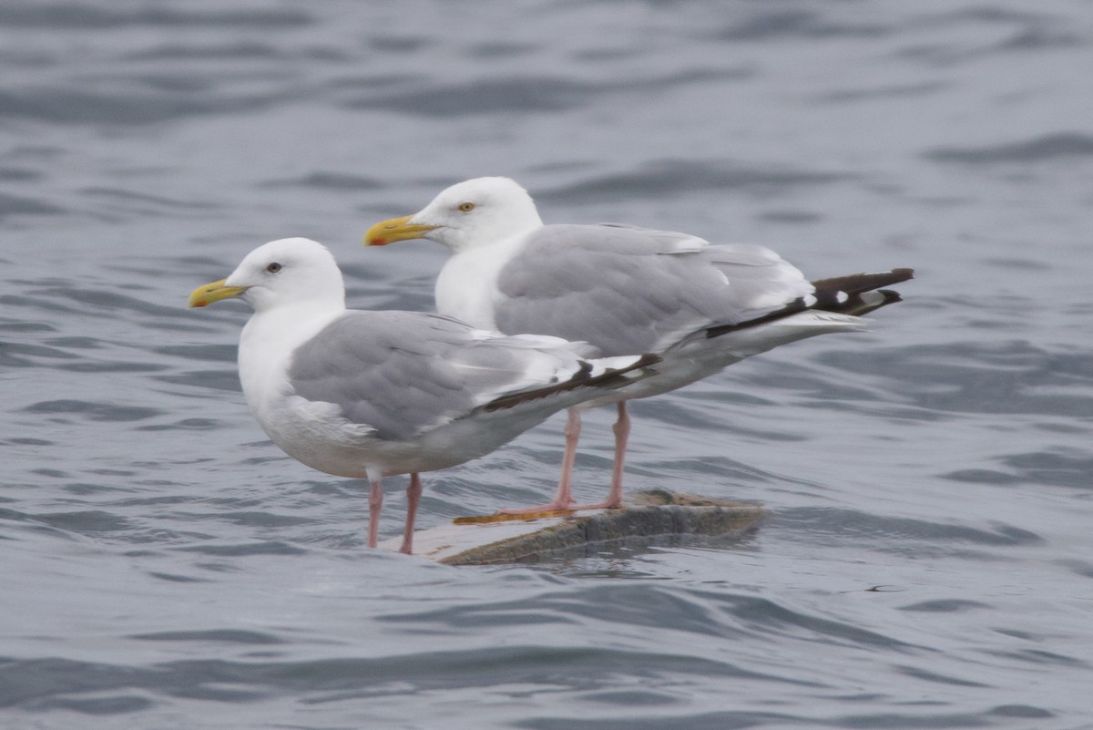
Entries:
[[375, 546], [384, 476], [410, 474], [402, 552], [413, 546], [419, 472], [484, 456], [553, 413], [651, 374], [655, 355], [586, 358], [579, 343], [508, 337], [450, 317], [345, 308], [324, 246], [274, 240], [190, 294], [191, 307], [239, 298], [239, 380], [255, 417], [289, 456], [371, 483]]

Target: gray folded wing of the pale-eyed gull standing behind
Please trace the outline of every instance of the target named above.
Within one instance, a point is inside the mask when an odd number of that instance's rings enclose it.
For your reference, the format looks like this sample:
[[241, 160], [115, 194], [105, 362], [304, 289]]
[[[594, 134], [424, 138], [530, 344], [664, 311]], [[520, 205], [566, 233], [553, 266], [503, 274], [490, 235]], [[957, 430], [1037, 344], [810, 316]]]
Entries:
[[761, 246], [618, 224], [543, 226], [502, 268], [497, 287], [503, 332], [587, 340], [604, 355], [660, 351], [812, 292], [800, 271]]

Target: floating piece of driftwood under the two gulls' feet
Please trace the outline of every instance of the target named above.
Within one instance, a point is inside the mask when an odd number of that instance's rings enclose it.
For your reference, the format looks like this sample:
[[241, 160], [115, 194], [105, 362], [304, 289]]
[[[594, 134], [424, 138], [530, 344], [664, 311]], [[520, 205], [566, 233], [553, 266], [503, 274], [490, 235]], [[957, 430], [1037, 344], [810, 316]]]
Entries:
[[[621, 509], [460, 517], [414, 534], [414, 554], [447, 565], [539, 563], [622, 546], [733, 538], [763, 519], [757, 505], [666, 491], [634, 494]], [[399, 540], [384, 545], [398, 549]]]

